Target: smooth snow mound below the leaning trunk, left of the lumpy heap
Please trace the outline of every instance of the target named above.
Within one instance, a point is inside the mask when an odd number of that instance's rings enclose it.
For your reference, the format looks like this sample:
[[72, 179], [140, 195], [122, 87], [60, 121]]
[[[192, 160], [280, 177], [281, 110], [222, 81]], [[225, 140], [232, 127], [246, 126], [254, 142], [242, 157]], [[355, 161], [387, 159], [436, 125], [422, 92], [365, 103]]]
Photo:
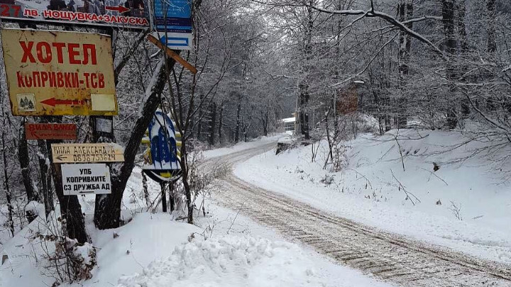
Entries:
[[167, 257], [177, 245], [187, 242], [198, 227], [173, 220], [164, 213], [138, 213], [133, 220], [114, 230], [94, 230], [98, 247], [92, 280], [77, 286], [115, 286], [119, 277], [141, 272], [151, 261]]

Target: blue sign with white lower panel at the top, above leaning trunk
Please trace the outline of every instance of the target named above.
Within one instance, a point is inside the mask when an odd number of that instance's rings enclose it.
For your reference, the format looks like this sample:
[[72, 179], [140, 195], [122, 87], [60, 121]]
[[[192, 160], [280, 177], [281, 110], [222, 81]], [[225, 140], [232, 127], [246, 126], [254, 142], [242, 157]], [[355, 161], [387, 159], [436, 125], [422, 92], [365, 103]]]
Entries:
[[192, 1], [155, 0], [153, 34], [174, 50], [192, 49]]

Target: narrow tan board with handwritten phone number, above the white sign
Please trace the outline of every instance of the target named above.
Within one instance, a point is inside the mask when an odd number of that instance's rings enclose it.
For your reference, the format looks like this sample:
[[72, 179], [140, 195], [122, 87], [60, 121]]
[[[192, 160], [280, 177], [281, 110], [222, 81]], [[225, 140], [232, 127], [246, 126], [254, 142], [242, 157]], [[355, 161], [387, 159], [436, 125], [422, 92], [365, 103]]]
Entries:
[[115, 143], [52, 144], [51, 147], [54, 164], [124, 161], [124, 150]]

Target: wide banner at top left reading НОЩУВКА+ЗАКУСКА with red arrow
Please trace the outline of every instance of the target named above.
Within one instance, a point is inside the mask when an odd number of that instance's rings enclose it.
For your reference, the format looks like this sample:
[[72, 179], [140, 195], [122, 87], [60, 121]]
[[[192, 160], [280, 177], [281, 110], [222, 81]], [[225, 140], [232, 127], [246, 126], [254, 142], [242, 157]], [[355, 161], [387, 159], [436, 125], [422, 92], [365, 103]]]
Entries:
[[147, 1], [143, 0], [3, 0], [0, 18], [131, 29], [146, 28], [150, 22]]

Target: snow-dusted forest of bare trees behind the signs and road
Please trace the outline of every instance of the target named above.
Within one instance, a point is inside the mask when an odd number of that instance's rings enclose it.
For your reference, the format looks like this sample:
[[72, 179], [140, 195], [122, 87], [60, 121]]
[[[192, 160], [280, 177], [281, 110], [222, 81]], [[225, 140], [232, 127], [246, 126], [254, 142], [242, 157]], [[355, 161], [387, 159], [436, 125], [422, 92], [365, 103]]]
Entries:
[[[126, 182], [142, 162], [140, 142], [161, 105], [183, 135], [180, 182], [189, 223], [190, 152], [269, 135], [294, 112], [304, 141], [328, 137], [332, 161], [336, 143], [358, 133], [361, 115], [375, 118], [380, 134], [451, 129], [495, 148], [511, 145], [507, 0], [198, 0], [193, 8], [193, 50], [180, 55], [197, 74], [148, 43], [147, 31], [97, 30], [115, 36], [114, 135], [94, 135], [84, 117], [62, 121], [77, 123], [78, 142], [126, 147], [126, 162], [111, 164], [113, 192], [96, 199], [99, 229], [122, 224]], [[55, 194], [51, 142], [24, 138], [24, 123], [57, 119], [11, 116], [3, 71], [0, 82], [0, 210], [9, 218], [0, 228], [14, 235], [33, 220], [25, 210], [30, 201], [44, 203], [46, 215], [58, 203], [67, 235], [86, 242], [79, 198]]]

